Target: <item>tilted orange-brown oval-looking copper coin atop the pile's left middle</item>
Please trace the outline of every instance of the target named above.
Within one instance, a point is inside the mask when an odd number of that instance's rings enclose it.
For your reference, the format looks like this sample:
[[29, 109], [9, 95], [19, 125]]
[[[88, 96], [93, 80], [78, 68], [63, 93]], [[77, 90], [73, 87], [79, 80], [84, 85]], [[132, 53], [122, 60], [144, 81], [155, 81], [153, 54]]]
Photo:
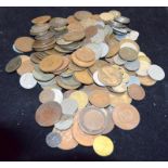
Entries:
[[39, 67], [42, 72], [54, 72], [57, 68], [60, 68], [63, 64], [63, 59], [60, 55], [49, 55], [44, 57], [40, 64]]

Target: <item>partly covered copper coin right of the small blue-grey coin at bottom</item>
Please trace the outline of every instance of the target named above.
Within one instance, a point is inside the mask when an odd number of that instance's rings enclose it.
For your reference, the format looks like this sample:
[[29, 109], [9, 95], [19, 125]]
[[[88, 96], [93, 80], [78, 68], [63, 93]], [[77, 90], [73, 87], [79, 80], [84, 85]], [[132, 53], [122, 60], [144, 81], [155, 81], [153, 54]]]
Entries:
[[59, 144], [61, 150], [73, 150], [78, 145], [78, 142], [73, 137], [72, 128], [60, 132], [62, 141]]

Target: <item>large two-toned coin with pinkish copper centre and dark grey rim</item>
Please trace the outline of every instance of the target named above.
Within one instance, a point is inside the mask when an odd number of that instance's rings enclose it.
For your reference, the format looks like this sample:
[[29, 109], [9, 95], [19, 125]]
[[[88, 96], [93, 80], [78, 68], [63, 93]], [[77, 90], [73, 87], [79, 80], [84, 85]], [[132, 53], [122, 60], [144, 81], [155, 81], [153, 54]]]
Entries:
[[86, 107], [79, 112], [79, 126], [89, 134], [101, 133], [106, 125], [107, 118], [106, 113], [96, 107]]

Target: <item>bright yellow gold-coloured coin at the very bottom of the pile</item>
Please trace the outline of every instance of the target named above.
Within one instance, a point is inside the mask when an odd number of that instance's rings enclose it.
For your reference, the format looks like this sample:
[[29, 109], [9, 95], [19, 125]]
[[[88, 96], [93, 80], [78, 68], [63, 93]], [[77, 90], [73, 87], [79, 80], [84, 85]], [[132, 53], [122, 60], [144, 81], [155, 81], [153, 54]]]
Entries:
[[109, 156], [114, 151], [113, 141], [105, 135], [99, 135], [94, 139], [93, 150], [100, 156]]

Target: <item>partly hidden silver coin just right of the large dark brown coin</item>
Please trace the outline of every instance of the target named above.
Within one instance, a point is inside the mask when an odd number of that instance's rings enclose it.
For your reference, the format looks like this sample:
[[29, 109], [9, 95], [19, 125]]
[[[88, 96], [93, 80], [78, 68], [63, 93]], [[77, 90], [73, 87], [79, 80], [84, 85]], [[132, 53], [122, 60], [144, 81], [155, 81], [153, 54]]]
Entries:
[[73, 116], [63, 115], [61, 117], [61, 120], [56, 122], [54, 127], [55, 129], [63, 131], [63, 130], [67, 130], [68, 128], [70, 128], [73, 122], [74, 122]]

